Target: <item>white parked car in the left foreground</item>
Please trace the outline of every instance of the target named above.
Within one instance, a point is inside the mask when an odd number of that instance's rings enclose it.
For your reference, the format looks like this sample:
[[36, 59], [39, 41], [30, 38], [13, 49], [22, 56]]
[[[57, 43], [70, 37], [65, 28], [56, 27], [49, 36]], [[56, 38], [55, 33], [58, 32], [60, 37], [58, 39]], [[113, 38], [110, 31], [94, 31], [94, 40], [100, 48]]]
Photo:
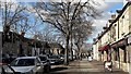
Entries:
[[[43, 74], [44, 66], [37, 57], [20, 57], [13, 60], [10, 63], [10, 66], [14, 70], [14, 72], [21, 74]], [[7, 67], [5, 73], [12, 74], [13, 71]]]

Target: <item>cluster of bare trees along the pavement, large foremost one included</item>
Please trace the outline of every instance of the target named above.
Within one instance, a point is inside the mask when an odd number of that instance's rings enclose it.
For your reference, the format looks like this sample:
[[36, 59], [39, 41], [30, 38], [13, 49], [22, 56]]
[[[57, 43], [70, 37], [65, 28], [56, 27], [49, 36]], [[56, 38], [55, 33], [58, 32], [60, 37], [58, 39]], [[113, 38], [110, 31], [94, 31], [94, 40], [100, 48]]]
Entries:
[[[68, 55], [70, 46], [76, 45], [79, 51], [88, 35], [92, 34], [93, 18], [100, 13], [93, 7], [94, 1], [86, 0], [85, 2], [37, 2], [34, 8], [40, 20], [57, 28], [66, 41], [66, 60], [68, 64]], [[71, 44], [70, 44], [71, 41]], [[72, 54], [72, 49], [71, 49]]]

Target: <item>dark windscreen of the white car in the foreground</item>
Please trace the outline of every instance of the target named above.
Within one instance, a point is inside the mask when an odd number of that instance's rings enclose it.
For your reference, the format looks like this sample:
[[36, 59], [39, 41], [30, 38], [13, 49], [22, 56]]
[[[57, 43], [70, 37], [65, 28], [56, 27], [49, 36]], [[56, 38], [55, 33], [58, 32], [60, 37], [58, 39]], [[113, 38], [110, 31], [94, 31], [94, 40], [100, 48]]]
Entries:
[[11, 62], [11, 66], [29, 66], [35, 65], [35, 59], [17, 59]]

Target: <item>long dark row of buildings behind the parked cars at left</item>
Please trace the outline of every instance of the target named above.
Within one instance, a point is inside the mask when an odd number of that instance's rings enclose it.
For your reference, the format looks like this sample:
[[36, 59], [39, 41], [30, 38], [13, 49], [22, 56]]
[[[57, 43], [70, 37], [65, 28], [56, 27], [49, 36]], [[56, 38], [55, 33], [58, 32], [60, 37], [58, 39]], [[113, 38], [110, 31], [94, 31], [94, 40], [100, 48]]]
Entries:
[[2, 53], [38, 55], [44, 54], [45, 50], [49, 48], [45, 41], [25, 38], [13, 32], [10, 32], [8, 36], [0, 32], [0, 40]]

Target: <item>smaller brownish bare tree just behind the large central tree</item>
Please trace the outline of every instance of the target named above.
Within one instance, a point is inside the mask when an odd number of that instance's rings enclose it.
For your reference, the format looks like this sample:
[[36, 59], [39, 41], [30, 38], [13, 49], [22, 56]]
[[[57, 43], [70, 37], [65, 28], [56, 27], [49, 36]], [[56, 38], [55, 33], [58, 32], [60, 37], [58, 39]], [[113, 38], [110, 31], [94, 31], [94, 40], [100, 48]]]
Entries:
[[79, 50], [79, 58], [81, 59], [81, 48], [83, 47], [83, 45], [85, 44], [85, 41], [88, 39], [88, 36], [92, 34], [92, 21], [88, 21], [86, 24], [84, 25], [82, 24], [81, 26], [79, 25], [79, 27], [74, 27], [72, 29], [72, 38], [73, 38], [73, 42], [74, 45], [78, 47]]

